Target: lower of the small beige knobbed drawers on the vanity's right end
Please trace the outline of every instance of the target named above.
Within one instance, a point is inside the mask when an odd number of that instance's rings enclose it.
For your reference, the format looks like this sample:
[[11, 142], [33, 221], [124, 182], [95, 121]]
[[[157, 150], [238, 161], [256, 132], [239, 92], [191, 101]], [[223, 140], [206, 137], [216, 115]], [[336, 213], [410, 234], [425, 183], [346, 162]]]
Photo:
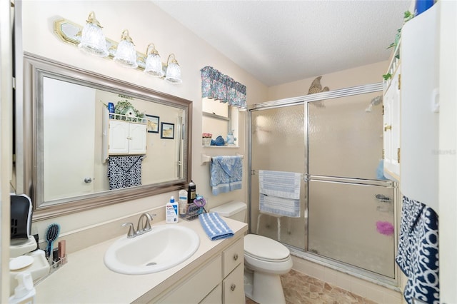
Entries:
[[222, 281], [222, 298], [224, 304], [244, 303], [244, 265], [238, 265]]

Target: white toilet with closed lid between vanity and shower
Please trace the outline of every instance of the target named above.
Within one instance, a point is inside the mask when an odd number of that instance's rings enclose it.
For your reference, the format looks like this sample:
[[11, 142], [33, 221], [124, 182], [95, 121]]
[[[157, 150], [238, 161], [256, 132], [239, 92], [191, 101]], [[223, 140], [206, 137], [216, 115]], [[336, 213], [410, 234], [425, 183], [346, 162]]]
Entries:
[[[246, 203], [229, 202], [210, 212], [246, 223]], [[244, 236], [244, 292], [260, 304], [286, 303], [280, 275], [292, 269], [291, 253], [283, 244], [262, 235]]]

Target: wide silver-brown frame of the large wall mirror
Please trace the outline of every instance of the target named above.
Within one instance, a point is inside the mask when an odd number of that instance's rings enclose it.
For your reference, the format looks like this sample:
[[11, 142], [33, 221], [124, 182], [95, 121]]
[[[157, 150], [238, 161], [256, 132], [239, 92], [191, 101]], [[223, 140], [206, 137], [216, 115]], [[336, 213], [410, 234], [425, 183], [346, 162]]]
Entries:
[[[154, 183], [151, 185], [101, 191], [84, 196], [70, 198], [65, 203], [36, 203], [36, 186], [38, 173], [36, 163], [39, 161], [36, 143], [37, 138], [36, 111], [38, 99], [42, 96], [42, 76], [55, 76], [60, 80], [71, 80], [73, 83], [88, 85], [93, 88], [122, 93], [145, 101], [154, 101], [168, 106], [176, 106], [184, 110], [184, 147], [183, 177], [174, 181]], [[16, 189], [17, 193], [28, 195], [34, 206], [34, 221], [56, 216], [87, 211], [93, 208], [109, 206], [116, 203], [133, 201], [139, 198], [154, 196], [186, 188], [191, 180], [192, 151], [192, 101], [172, 96], [150, 88], [137, 86], [133, 83], [120, 81], [74, 66], [62, 64], [30, 53], [24, 53], [24, 100], [16, 101]], [[22, 118], [22, 121], [21, 121]], [[18, 135], [18, 133], [21, 133]], [[41, 138], [42, 139], [42, 138]], [[24, 185], [20, 187], [21, 185]]]

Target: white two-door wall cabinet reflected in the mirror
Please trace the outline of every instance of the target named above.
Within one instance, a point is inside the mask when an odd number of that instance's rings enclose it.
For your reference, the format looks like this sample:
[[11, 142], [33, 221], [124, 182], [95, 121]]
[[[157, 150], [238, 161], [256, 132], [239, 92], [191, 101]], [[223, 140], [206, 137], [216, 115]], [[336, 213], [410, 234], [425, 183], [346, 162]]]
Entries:
[[109, 120], [109, 154], [145, 154], [146, 124]]

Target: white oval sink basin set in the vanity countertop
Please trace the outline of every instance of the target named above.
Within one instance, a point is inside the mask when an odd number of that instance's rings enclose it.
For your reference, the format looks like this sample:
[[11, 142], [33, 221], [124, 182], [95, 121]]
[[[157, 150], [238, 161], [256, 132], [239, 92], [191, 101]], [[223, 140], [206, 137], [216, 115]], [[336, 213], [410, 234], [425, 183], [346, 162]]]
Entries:
[[116, 273], [156, 273], [190, 258], [199, 244], [199, 235], [184, 226], [152, 226], [152, 230], [143, 235], [116, 240], [106, 250], [104, 262]]

